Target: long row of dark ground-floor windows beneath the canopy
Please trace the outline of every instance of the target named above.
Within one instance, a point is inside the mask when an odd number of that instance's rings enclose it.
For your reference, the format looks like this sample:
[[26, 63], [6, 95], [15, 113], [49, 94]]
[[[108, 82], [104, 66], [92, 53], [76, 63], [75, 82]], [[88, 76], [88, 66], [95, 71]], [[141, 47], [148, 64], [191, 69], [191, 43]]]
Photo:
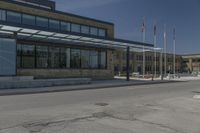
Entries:
[[42, 45], [17, 45], [17, 67], [106, 69], [106, 51]]

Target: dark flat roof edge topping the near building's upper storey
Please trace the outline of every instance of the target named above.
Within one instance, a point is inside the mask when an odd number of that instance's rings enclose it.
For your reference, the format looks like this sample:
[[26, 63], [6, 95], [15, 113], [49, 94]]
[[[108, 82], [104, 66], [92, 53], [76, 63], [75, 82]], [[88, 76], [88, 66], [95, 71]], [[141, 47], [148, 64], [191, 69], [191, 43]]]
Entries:
[[67, 13], [67, 12], [63, 12], [63, 11], [59, 11], [59, 10], [50, 10], [50, 9], [46, 9], [46, 8], [42, 8], [42, 7], [28, 5], [28, 4], [25, 4], [25, 3], [20, 3], [20, 2], [17, 2], [17, 1], [6, 0], [6, 2], [17, 4], [17, 5], [21, 5], [21, 6], [25, 6], [25, 7], [30, 7], [30, 8], [36, 8], [36, 9], [40, 9], [40, 10], [45, 10], [45, 11], [52, 12], [52, 13], [58, 13], [58, 14], [62, 14], [62, 15], [67, 15], [67, 16], [72, 16], [72, 17], [87, 19], [87, 20], [91, 20], [91, 21], [96, 21], [96, 22], [104, 23], [104, 24], [108, 24], [108, 25], [114, 25], [114, 23], [103, 21], [103, 20], [98, 20], [98, 19], [94, 19], [94, 18], [90, 18], [90, 17], [85, 17], [85, 16], [81, 16], [81, 15]]

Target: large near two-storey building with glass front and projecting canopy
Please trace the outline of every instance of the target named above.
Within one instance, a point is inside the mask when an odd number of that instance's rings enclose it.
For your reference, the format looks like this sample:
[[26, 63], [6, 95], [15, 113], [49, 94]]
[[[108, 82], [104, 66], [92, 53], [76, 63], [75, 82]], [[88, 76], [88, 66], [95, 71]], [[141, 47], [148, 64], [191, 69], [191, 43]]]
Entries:
[[49, 0], [0, 1], [0, 76], [114, 76], [113, 53], [152, 44], [114, 38], [114, 24], [55, 9]]

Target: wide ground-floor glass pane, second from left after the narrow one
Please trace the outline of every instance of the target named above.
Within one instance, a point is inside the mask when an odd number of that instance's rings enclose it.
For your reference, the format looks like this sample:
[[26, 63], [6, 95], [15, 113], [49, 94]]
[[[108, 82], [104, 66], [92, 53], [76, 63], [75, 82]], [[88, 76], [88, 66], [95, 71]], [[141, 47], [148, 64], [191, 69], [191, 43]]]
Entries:
[[35, 67], [35, 46], [22, 45], [22, 68]]

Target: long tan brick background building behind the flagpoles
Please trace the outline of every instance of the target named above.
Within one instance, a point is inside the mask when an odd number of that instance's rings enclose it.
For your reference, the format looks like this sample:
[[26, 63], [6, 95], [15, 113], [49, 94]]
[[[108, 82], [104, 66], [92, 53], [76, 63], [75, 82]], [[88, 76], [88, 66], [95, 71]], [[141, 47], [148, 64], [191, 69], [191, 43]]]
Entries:
[[[138, 52], [140, 51], [140, 52]], [[165, 71], [164, 64], [164, 54], [162, 55], [163, 61], [161, 61], [161, 54], [157, 52], [156, 62], [157, 74], [160, 74], [161, 63], [163, 74]], [[114, 61], [114, 71], [115, 75], [125, 74], [126, 73], [126, 51], [118, 50], [115, 52], [115, 61]], [[181, 72], [182, 67], [182, 57], [180, 55], [176, 55], [176, 72]], [[143, 51], [137, 50], [133, 51], [130, 54], [130, 72], [131, 73], [139, 73], [143, 74]], [[145, 74], [154, 74], [155, 71], [155, 59], [154, 52], [147, 51], [145, 52]], [[166, 54], [166, 73], [173, 73], [173, 54]]]

